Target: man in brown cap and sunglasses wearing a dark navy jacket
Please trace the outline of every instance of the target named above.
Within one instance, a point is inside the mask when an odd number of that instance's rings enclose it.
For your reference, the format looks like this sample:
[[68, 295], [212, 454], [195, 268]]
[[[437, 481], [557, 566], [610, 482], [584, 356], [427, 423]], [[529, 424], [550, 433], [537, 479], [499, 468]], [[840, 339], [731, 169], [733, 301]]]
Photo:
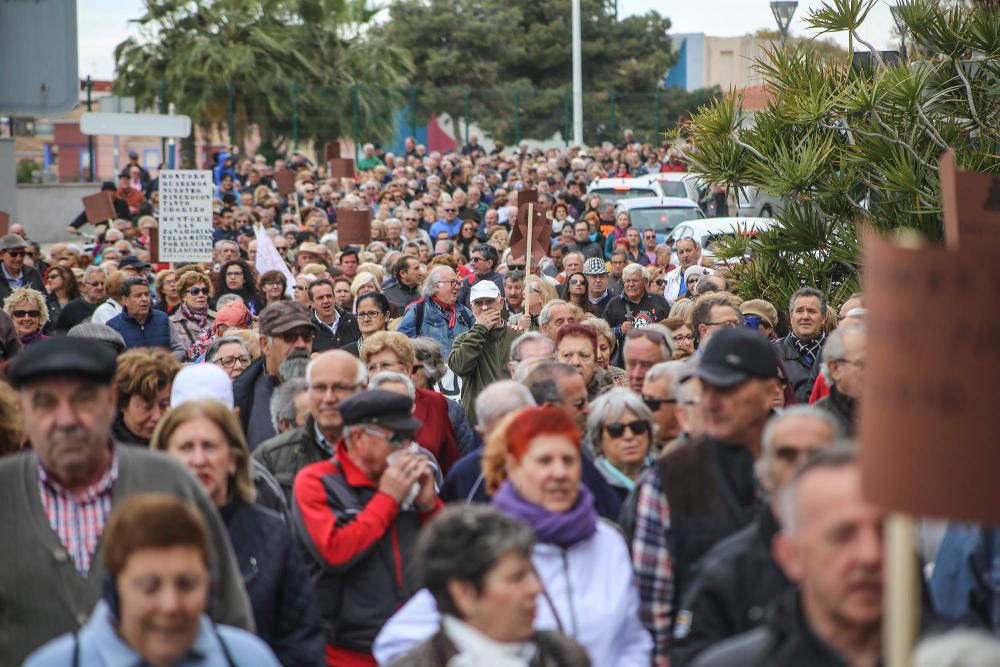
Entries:
[[274, 388], [284, 382], [279, 369], [289, 358], [306, 360], [312, 353], [316, 325], [309, 309], [296, 301], [277, 301], [260, 313], [260, 357], [233, 382], [233, 400], [253, 450], [274, 437], [270, 404]]

